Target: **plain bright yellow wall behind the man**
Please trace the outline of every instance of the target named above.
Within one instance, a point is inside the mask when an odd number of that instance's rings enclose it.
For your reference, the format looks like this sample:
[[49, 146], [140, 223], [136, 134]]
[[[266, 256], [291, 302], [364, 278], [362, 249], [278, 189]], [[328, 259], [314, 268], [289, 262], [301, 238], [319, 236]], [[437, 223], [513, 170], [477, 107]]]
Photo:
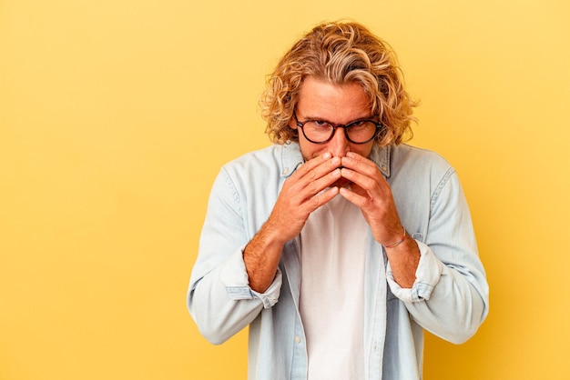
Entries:
[[185, 295], [219, 166], [268, 145], [265, 75], [350, 17], [422, 101], [491, 285], [425, 379], [570, 376], [570, 6], [563, 0], [0, 0], [0, 379], [244, 379]]

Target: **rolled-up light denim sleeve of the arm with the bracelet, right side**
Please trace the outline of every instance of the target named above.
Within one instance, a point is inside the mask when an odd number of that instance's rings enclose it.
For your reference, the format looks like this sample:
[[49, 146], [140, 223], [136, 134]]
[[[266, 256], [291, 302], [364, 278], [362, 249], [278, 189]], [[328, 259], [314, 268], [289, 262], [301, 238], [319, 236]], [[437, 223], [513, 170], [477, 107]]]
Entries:
[[402, 288], [388, 266], [392, 293], [412, 318], [455, 344], [471, 337], [488, 313], [488, 285], [477, 254], [471, 215], [457, 175], [450, 169], [432, 195], [416, 280]]

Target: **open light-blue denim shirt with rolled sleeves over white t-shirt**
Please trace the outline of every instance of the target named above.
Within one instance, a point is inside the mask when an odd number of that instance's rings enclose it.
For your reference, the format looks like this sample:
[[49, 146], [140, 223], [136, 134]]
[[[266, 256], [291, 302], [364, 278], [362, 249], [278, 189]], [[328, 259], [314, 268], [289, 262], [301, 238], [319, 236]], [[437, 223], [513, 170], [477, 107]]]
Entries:
[[[402, 225], [420, 247], [412, 288], [398, 285], [368, 231], [364, 275], [366, 379], [422, 379], [423, 329], [460, 344], [488, 313], [488, 285], [459, 179], [440, 155], [410, 145], [369, 157], [392, 188]], [[302, 164], [299, 145], [272, 145], [225, 165], [211, 190], [188, 287], [198, 329], [219, 345], [249, 326], [249, 380], [307, 378], [299, 313], [299, 237], [283, 248], [277, 275], [249, 287], [243, 249], [268, 219], [283, 182]], [[326, 292], [327, 289], [322, 289]], [[358, 295], [355, 295], [358, 296]]]

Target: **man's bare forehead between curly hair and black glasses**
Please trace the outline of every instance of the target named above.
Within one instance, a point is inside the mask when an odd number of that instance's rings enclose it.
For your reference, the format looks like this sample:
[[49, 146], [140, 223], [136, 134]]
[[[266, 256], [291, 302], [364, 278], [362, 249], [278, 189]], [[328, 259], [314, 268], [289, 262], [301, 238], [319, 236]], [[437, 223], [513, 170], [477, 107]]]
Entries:
[[358, 83], [332, 85], [307, 77], [300, 85], [297, 110], [303, 118], [323, 118], [338, 123], [371, 115], [369, 96]]

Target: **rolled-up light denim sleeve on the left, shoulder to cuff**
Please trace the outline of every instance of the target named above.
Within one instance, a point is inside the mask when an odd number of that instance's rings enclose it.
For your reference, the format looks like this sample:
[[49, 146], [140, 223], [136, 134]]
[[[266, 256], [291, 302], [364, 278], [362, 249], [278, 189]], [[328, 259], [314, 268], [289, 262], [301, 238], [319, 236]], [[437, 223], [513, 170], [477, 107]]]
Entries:
[[239, 193], [222, 169], [210, 193], [187, 295], [190, 315], [200, 333], [213, 344], [237, 334], [279, 299], [280, 272], [263, 294], [249, 287], [243, 249], [251, 237], [245, 228]]

